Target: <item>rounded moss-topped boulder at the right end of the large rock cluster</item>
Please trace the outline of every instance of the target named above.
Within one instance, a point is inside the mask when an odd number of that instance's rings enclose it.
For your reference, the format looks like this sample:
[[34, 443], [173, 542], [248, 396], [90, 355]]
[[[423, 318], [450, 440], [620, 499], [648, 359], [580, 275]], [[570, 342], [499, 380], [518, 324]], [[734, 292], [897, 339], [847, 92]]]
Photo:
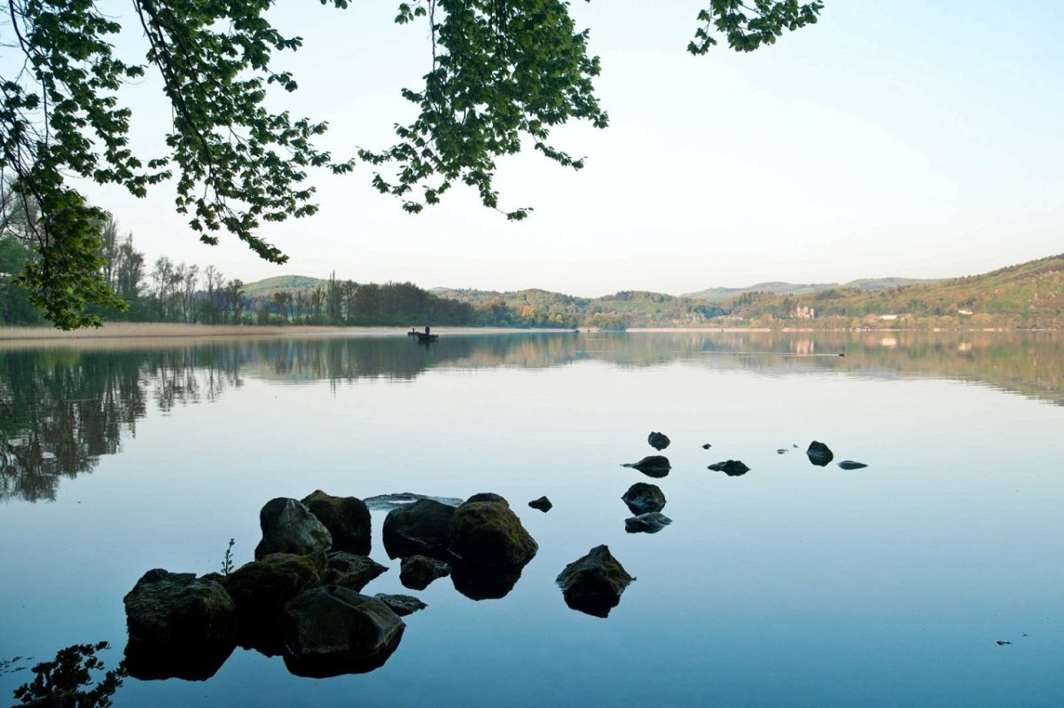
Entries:
[[532, 560], [539, 545], [501, 496], [473, 495], [454, 510], [450, 550], [467, 563], [519, 567]]

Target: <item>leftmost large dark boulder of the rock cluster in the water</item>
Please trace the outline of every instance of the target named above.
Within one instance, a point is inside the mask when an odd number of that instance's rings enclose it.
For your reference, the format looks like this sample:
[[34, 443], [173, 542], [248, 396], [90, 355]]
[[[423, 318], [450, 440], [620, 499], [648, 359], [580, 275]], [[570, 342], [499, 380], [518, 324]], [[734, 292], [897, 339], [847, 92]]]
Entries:
[[127, 669], [144, 680], [205, 680], [236, 646], [236, 605], [218, 582], [148, 571], [124, 597]]

